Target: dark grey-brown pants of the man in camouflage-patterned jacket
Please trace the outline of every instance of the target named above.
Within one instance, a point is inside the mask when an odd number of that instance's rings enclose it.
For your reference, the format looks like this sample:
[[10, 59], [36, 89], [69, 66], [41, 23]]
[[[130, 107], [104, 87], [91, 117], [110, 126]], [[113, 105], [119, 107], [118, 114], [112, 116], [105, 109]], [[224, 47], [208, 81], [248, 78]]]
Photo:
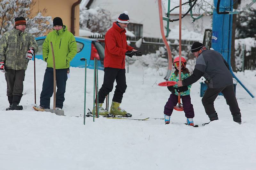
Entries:
[[[15, 103], [20, 103], [23, 92], [23, 81], [25, 79], [25, 70], [13, 70], [6, 68], [4, 74], [7, 83], [8, 101], [12, 104], [12, 98], [15, 96]], [[17, 100], [16, 100], [17, 98]]]

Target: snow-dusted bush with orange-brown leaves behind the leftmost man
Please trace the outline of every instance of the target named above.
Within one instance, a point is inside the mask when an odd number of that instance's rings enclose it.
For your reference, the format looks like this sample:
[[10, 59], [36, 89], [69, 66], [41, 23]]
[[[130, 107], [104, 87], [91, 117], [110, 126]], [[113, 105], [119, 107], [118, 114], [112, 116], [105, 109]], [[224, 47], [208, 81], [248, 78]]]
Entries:
[[0, 38], [4, 32], [10, 31], [14, 27], [16, 17], [24, 17], [27, 22], [26, 31], [34, 36], [43, 36], [45, 32], [52, 29], [52, 18], [43, 15], [46, 9], [32, 13], [36, 1], [34, 0], [1, 0], [0, 1]]

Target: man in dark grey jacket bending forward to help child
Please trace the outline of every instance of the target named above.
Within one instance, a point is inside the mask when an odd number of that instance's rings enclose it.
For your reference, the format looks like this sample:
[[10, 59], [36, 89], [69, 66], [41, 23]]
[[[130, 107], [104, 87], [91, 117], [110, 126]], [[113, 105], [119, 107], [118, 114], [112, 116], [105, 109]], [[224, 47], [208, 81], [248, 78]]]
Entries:
[[241, 124], [241, 113], [236, 101], [233, 77], [228, 63], [220, 53], [207, 49], [200, 42], [192, 45], [191, 52], [196, 56], [195, 69], [190, 77], [178, 81], [178, 86], [188, 86], [204, 76], [206, 80], [204, 82], [208, 88], [205, 90], [202, 103], [210, 121], [219, 119], [213, 102], [221, 92], [229, 105], [233, 120]]

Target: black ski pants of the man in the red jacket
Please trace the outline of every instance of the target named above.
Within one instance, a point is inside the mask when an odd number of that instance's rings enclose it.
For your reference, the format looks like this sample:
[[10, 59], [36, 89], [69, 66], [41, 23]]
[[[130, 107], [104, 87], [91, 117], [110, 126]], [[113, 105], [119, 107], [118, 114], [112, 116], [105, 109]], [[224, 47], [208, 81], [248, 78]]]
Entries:
[[116, 90], [112, 101], [122, 103], [123, 94], [127, 88], [125, 79], [125, 69], [104, 68], [104, 80], [99, 90], [99, 103], [104, 103], [105, 97], [113, 90], [116, 80]]

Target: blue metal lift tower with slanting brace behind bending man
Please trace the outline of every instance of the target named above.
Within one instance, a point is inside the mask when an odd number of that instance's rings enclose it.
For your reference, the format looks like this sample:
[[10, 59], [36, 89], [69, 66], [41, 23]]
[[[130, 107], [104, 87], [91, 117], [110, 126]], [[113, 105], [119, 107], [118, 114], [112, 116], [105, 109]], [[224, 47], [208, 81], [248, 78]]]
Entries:
[[[243, 83], [233, 73], [230, 65], [231, 40], [232, 40], [232, 20], [236, 12], [233, 11], [233, 0], [221, 0], [217, 9], [218, 0], [214, 0], [213, 19], [212, 19], [212, 48], [222, 54], [228, 62], [229, 70], [236, 81], [254, 97], [252, 93], [243, 85]], [[218, 11], [219, 10], [219, 11]], [[226, 12], [229, 11], [229, 12]], [[222, 13], [222, 14], [218, 14]], [[225, 14], [224, 14], [225, 13]]]

